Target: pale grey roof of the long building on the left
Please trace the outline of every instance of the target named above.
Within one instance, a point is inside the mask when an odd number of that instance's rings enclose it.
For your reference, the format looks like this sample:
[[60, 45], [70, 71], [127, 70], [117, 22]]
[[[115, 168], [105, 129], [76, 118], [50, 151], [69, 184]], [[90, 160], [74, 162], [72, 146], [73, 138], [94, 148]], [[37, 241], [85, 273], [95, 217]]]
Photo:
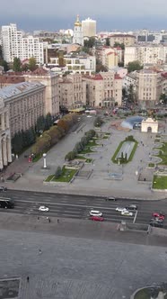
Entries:
[[36, 89], [37, 87], [44, 86], [40, 82], [22, 82], [0, 88], [0, 98], [7, 99], [15, 95], [26, 94], [27, 92]]

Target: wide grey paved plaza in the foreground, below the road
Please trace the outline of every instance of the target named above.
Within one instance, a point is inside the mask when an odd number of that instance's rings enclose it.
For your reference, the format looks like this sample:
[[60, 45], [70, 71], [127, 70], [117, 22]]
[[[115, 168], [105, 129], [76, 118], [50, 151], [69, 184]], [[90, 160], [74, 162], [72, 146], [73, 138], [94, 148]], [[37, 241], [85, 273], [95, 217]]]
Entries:
[[165, 236], [125, 235], [111, 223], [2, 217], [1, 299], [129, 299], [136, 288], [167, 280]]

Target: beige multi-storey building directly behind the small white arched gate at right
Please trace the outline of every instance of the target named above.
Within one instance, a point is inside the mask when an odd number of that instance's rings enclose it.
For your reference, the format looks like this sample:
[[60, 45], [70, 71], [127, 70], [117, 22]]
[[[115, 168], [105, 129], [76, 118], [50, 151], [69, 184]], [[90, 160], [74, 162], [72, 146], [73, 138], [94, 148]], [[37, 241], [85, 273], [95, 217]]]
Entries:
[[139, 104], [152, 106], [158, 103], [162, 93], [162, 76], [150, 69], [136, 72], [136, 100]]

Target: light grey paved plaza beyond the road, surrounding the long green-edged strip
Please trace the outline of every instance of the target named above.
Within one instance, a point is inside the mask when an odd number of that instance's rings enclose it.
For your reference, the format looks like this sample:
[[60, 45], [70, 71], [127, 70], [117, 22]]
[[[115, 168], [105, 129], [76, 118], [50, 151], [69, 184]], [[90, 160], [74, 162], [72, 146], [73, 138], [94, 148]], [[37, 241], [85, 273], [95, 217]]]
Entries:
[[[119, 131], [111, 124], [113, 121], [108, 120], [102, 125], [101, 131], [109, 131], [108, 140], [101, 140], [101, 144], [96, 148], [95, 153], [91, 153], [88, 157], [93, 159], [92, 164], [84, 166], [83, 170], [92, 172], [91, 177], [83, 176], [83, 179], [75, 179], [72, 184], [56, 184], [55, 186], [44, 186], [43, 180], [49, 174], [54, 174], [57, 166], [63, 166], [65, 163], [66, 153], [73, 150], [75, 143], [81, 140], [85, 131], [93, 128], [94, 118], [86, 118], [84, 116], [84, 124], [68, 133], [68, 135], [60, 140], [56, 146], [47, 153], [48, 169], [42, 169], [43, 159], [37, 163], [28, 163], [28, 159], [22, 155], [18, 160], [7, 168], [4, 177], [10, 173], [21, 172], [22, 177], [15, 183], [7, 183], [14, 189], [46, 191], [68, 194], [82, 195], [113, 195], [128, 198], [144, 198], [144, 199], [160, 199], [166, 195], [151, 191], [151, 182], [153, 170], [148, 169], [148, 163], [154, 161], [152, 154], [154, 153], [155, 134], [142, 133], [140, 131]], [[111, 157], [119, 146], [119, 142], [124, 140], [128, 135], [134, 135], [138, 141], [133, 160], [127, 165], [113, 164]], [[145, 182], [138, 182], [136, 173], [140, 173]], [[113, 179], [115, 178], [119, 179]]]

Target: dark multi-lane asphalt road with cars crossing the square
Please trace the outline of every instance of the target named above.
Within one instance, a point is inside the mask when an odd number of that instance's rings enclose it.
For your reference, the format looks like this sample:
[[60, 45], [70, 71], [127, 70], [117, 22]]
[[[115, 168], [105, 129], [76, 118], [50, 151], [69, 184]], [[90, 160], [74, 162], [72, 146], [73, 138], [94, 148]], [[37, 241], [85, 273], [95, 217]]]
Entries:
[[[136, 201], [124, 198], [117, 198], [117, 201], [106, 201], [105, 197], [93, 197], [83, 195], [62, 195], [46, 194], [27, 191], [8, 190], [0, 194], [1, 197], [10, 197], [14, 200], [14, 213], [46, 215], [48, 217], [63, 217], [74, 219], [89, 219], [90, 210], [96, 209], [103, 213], [105, 221], [136, 222], [148, 224], [153, 212], [167, 214], [167, 200], [161, 201]], [[133, 216], [123, 216], [116, 212], [117, 206], [125, 207], [128, 204], [137, 204], [137, 213], [134, 211]], [[48, 212], [40, 212], [40, 205], [46, 205]], [[1, 209], [0, 213], [13, 213], [13, 209]], [[164, 222], [164, 227], [167, 228]]]

